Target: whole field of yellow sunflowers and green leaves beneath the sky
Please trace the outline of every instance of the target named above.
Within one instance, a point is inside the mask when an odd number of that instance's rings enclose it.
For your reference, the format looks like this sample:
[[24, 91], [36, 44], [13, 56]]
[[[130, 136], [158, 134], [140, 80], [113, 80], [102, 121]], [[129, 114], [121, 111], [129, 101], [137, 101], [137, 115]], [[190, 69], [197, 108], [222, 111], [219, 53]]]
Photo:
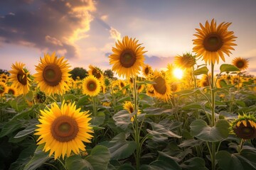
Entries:
[[[72, 79], [54, 52], [36, 74], [12, 64], [0, 75], [0, 169], [256, 169], [249, 61], [215, 65], [235, 50], [230, 24], [200, 23], [195, 55], [177, 55], [164, 70], [145, 64], [145, 47], [124, 36], [109, 56], [118, 79], [93, 65]], [[183, 77], [174, 77], [177, 67]]]

